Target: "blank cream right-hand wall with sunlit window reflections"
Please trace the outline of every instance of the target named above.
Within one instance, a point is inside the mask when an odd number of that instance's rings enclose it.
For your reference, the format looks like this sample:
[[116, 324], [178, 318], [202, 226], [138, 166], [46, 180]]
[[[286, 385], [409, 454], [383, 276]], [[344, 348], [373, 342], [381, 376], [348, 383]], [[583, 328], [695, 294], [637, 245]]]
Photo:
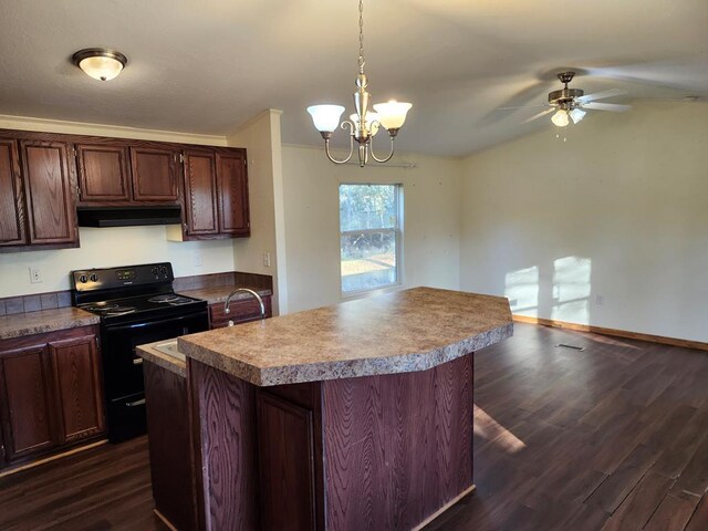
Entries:
[[708, 104], [638, 103], [556, 133], [465, 160], [461, 289], [708, 341]]

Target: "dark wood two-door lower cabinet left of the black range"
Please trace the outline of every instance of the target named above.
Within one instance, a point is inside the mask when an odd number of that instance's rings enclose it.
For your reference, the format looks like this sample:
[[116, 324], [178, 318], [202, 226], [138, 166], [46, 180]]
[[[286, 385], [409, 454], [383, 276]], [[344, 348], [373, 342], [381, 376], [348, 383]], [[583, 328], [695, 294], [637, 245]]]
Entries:
[[97, 329], [0, 341], [0, 468], [105, 433]]

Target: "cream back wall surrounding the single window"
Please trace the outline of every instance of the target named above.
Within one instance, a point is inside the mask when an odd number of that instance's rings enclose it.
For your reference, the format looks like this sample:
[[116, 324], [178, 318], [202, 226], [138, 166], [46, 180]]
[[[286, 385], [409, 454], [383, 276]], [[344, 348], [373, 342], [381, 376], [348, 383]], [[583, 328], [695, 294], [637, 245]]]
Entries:
[[457, 289], [461, 162], [405, 155], [416, 168], [330, 163], [322, 148], [283, 146], [283, 209], [291, 312], [340, 302], [341, 183], [403, 184], [405, 288]]

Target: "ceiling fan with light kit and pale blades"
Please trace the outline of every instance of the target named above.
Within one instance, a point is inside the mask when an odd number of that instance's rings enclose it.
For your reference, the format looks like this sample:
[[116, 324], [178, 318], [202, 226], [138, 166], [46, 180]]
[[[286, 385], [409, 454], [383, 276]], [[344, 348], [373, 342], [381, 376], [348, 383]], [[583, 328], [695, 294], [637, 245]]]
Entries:
[[611, 88], [608, 91], [596, 92], [587, 95], [585, 95], [585, 92], [582, 88], [569, 88], [568, 84], [573, 81], [574, 76], [575, 72], [561, 72], [558, 74], [558, 79], [561, 80], [561, 83], [564, 83], [565, 86], [560, 91], [552, 91], [549, 93], [548, 105], [550, 108], [534, 114], [522, 123], [528, 124], [529, 122], [533, 122], [534, 119], [555, 112], [551, 117], [551, 122], [559, 127], [565, 127], [571, 123], [571, 121], [573, 124], [577, 124], [583, 119], [585, 114], [587, 114], [586, 110], [622, 113], [632, 108], [631, 105], [596, 102], [596, 100], [604, 100], [605, 97], [624, 94], [625, 91], [621, 91], [620, 88]]

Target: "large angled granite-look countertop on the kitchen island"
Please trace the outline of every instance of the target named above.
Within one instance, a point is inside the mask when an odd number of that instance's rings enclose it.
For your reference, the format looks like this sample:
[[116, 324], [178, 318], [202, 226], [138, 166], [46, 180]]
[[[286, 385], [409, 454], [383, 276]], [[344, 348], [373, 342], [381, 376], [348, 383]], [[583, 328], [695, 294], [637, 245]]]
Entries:
[[509, 301], [433, 288], [179, 337], [179, 351], [254, 385], [425, 371], [513, 334]]

